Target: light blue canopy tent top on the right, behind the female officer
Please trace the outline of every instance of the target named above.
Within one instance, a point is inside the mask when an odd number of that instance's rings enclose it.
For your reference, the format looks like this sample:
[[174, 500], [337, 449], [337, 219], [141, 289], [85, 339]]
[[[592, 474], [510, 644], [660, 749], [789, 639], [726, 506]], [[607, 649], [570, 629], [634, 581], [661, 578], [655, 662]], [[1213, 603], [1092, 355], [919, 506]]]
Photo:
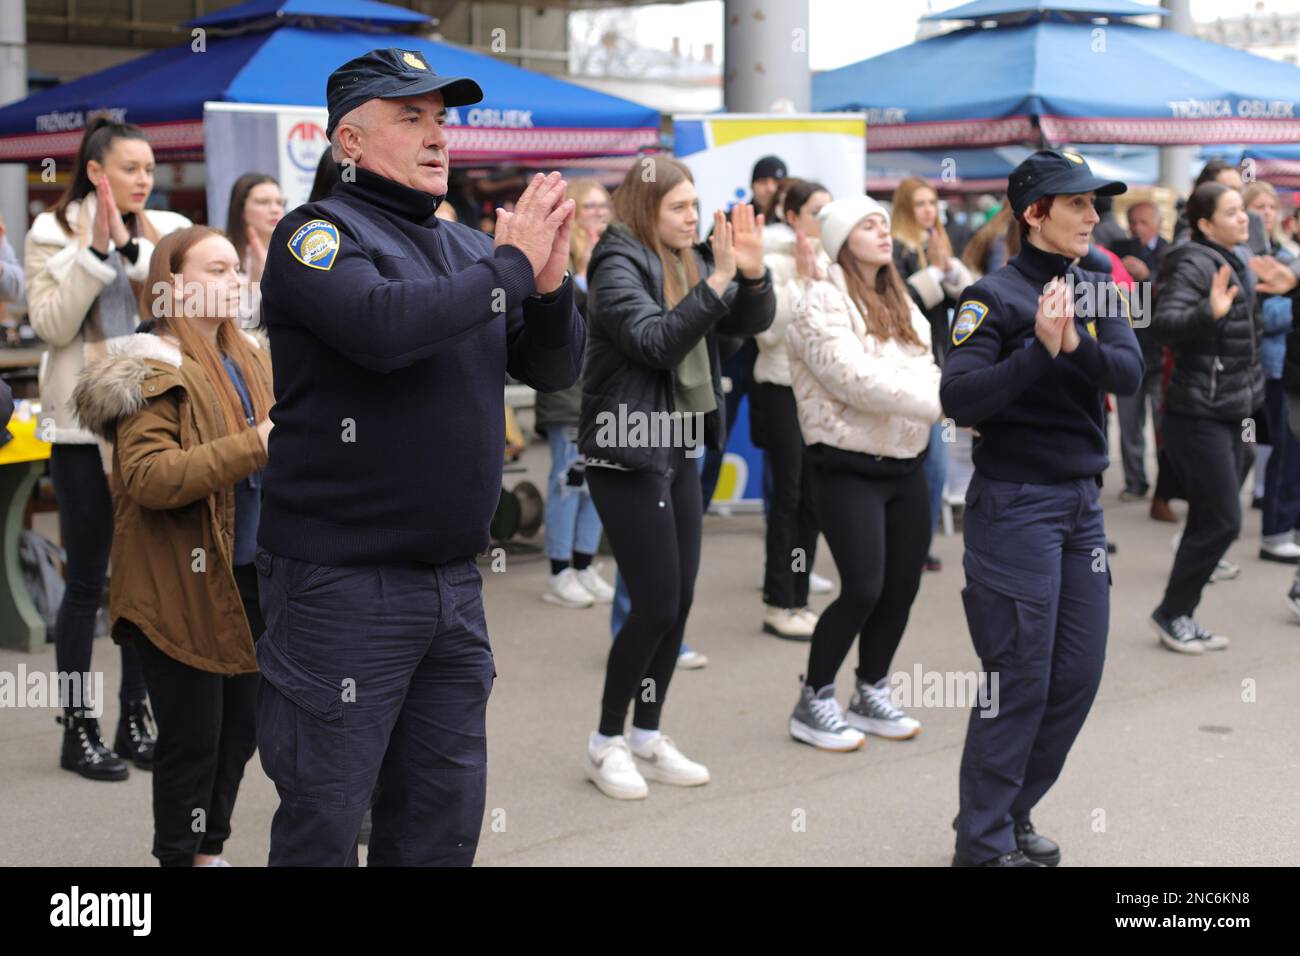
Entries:
[[1300, 140], [1300, 68], [1093, 21], [1135, 12], [1158, 13], [1135, 3], [979, 0], [931, 14], [980, 22], [814, 75], [812, 108], [866, 111], [872, 150]]

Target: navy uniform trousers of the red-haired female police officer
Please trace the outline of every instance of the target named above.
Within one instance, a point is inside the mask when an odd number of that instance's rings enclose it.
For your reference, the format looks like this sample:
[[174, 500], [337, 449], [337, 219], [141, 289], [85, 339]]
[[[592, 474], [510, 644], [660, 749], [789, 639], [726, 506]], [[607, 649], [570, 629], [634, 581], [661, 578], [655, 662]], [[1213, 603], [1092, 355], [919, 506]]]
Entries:
[[971, 479], [962, 519], [962, 602], [989, 692], [962, 752], [957, 855], [1017, 849], [1013, 822], [1052, 787], [1101, 683], [1110, 620], [1106, 533], [1096, 479]]

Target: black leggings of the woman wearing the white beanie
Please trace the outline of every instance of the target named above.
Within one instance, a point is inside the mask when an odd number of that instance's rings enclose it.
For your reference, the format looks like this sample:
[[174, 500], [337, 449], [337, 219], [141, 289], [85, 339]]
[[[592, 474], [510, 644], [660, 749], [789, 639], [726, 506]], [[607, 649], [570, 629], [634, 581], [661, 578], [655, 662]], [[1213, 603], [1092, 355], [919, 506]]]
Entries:
[[930, 549], [930, 490], [920, 467], [876, 479], [810, 468], [812, 501], [840, 572], [840, 596], [812, 632], [806, 683], [835, 683], [858, 641], [858, 678], [876, 683], [902, 641]]

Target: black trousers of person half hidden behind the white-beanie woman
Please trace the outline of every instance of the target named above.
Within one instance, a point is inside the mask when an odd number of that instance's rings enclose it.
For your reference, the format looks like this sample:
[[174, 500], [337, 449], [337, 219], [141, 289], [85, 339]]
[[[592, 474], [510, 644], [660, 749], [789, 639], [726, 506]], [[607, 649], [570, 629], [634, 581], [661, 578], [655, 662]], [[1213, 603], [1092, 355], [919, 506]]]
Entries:
[[[818, 528], [794, 390], [760, 382], [753, 394], [760, 395], [751, 411], [763, 420], [767, 460], [772, 464], [763, 602], [771, 607], [803, 607], [809, 602]], [[796, 551], [802, 553], [801, 561]], [[797, 563], [802, 570], [794, 570]]]

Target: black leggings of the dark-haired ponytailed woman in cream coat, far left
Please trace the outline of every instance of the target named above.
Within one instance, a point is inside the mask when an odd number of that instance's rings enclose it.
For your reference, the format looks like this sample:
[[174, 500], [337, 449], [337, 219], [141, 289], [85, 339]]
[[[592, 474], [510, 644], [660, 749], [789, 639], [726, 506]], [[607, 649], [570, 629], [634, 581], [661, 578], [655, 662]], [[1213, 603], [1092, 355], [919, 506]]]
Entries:
[[[64, 674], [90, 671], [95, 614], [104, 600], [104, 576], [113, 549], [113, 498], [99, 445], [55, 445], [49, 479], [58, 498], [58, 536], [68, 561], [66, 591], [55, 619], [55, 661]], [[122, 704], [144, 700], [139, 652], [122, 645]]]

